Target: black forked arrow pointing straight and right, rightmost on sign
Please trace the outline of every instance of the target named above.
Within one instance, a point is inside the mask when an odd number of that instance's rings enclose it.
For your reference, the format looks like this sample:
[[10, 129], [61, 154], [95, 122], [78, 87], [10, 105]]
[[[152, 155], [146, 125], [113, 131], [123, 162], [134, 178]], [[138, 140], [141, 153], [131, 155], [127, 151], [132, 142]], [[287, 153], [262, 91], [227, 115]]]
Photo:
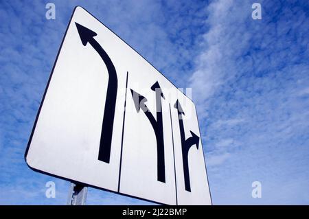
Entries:
[[179, 130], [181, 133], [181, 151], [183, 154], [183, 175], [185, 178], [185, 190], [191, 192], [188, 154], [192, 146], [196, 145], [196, 148], [198, 149], [200, 138], [190, 130], [192, 137], [185, 139], [185, 128], [183, 126], [183, 115], [185, 115], [185, 113], [183, 113], [183, 108], [181, 108], [179, 100], [177, 100], [176, 103], [174, 104], [174, 108], [176, 108], [178, 111]]

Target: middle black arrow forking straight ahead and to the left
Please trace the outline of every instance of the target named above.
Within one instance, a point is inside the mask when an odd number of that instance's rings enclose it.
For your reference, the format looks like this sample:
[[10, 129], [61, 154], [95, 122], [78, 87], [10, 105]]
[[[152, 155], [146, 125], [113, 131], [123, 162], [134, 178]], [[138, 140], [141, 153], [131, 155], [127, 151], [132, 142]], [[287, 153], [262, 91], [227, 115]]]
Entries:
[[146, 106], [146, 97], [140, 95], [139, 93], [131, 89], [133, 101], [137, 113], [142, 109], [148, 118], [153, 130], [155, 131], [155, 136], [157, 140], [157, 180], [165, 183], [165, 158], [164, 158], [164, 139], [163, 139], [163, 120], [162, 120], [162, 105], [161, 97], [165, 99], [162, 89], [158, 82], [151, 87], [152, 91], [156, 93], [156, 111], [157, 119], [152, 115], [148, 106]]

